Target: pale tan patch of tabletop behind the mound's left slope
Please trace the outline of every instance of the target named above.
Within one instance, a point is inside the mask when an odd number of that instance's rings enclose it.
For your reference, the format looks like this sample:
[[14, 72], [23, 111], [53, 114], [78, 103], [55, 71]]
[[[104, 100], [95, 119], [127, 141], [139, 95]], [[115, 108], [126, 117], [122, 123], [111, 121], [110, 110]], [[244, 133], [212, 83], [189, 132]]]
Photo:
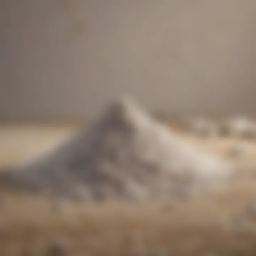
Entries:
[[76, 129], [73, 125], [56, 124], [0, 126], [0, 168], [22, 164], [54, 149]]

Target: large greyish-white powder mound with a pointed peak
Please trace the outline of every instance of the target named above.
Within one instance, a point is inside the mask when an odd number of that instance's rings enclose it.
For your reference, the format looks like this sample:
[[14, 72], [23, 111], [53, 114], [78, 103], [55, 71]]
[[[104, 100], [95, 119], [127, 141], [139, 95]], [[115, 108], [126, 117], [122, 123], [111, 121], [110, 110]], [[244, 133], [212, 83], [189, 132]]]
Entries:
[[122, 99], [54, 152], [12, 172], [8, 183], [86, 199], [170, 198], [219, 186], [231, 173]]

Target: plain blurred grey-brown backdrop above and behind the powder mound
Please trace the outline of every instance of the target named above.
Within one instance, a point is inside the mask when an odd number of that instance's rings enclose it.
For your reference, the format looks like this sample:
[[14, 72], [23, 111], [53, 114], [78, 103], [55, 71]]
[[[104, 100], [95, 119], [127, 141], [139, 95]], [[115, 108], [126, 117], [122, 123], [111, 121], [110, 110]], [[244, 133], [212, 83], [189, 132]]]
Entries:
[[255, 0], [1, 0], [0, 117], [256, 110]]

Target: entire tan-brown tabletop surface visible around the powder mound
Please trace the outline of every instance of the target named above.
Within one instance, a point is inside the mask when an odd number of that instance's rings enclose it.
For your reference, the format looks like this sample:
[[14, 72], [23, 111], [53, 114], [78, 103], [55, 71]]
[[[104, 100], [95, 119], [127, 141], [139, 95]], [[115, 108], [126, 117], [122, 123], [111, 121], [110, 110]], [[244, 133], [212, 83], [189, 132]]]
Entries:
[[[14, 166], [53, 149], [76, 131], [74, 126], [0, 127], [0, 166]], [[227, 158], [234, 138], [196, 138], [179, 133], [195, 147]], [[256, 143], [232, 161], [242, 174], [255, 172]], [[249, 172], [248, 172], [249, 173]], [[253, 176], [251, 176], [253, 177]], [[33, 193], [0, 191], [0, 255], [42, 255], [54, 243], [64, 255], [255, 255], [255, 179], [239, 181], [214, 195], [178, 202], [57, 202]], [[248, 210], [249, 209], [249, 210]], [[4, 234], [4, 235], [1, 235]], [[65, 247], [66, 246], [66, 247]], [[239, 252], [240, 254], [237, 254]], [[159, 254], [162, 255], [162, 254]]]

